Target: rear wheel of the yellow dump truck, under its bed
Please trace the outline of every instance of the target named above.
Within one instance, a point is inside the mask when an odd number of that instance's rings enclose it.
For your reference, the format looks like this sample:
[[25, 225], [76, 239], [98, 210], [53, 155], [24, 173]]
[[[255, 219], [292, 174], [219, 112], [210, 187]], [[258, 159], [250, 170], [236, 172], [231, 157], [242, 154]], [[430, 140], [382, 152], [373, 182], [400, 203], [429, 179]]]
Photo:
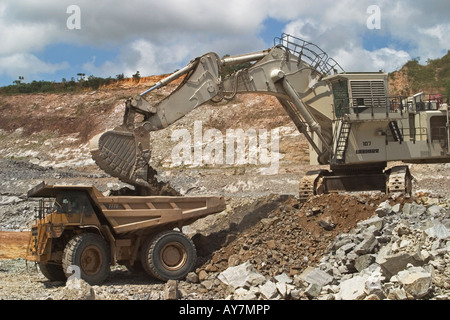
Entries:
[[165, 231], [150, 237], [141, 248], [145, 272], [162, 281], [183, 279], [196, 261], [194, 243], [177, 231]]

